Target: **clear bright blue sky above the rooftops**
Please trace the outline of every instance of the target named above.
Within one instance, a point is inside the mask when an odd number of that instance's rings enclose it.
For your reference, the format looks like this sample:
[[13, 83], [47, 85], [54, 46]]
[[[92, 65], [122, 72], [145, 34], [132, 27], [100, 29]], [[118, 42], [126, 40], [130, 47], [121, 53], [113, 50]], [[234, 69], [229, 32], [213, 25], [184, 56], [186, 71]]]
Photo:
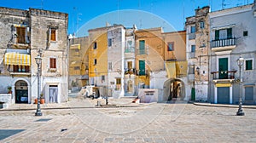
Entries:
[[106, 22], [182, 31], [185, 18], [194, 15], [196, 8], [210, 4], [212, 11], [220, 10], [223, 1], [225, 9], [253, 3], [253, 0], [1, 0], [0, 6], [67, 13], [68, 33], [81, 31], [79, 35], [84, 36], [88, 29], [105, 26]]

